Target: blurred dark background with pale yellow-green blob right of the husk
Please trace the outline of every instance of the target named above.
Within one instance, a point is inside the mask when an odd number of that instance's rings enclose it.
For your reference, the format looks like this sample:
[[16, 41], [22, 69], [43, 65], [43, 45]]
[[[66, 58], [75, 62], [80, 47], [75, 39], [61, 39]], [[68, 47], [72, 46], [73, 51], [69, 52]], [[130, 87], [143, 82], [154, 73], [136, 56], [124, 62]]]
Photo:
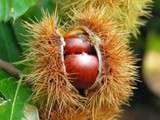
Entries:
[[154, 0], [152, 17], [131, 43], [141, 60], [139, 82], [122, 120], [160, 120], [160, 0]]

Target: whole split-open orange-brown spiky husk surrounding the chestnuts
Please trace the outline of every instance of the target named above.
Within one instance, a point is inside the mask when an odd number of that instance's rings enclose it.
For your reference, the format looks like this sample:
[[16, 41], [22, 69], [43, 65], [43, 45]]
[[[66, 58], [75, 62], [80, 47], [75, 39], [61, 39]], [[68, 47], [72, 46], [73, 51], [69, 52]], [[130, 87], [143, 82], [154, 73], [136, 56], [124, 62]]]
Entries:
[[26, 53], [32, 72], [26, 81], [32, 85], [32, 98], [39, 105], [42, 120], [50, 117], [53, 120], [113, 120], [132, 95], [136, 67], [127, 33], [105, 12], [105, 7], [90, 7], [74, 11], [72, 19], [71, 28], [86, 31], [91, 38], [89, 42], [98, 45], [102, 55], [100, 82], [87, 90], [85, 96], [79, 95], [66, 74], [64, 41], [56, 17], [44, 14], [39, 23], [26, 23], [32, 34]]

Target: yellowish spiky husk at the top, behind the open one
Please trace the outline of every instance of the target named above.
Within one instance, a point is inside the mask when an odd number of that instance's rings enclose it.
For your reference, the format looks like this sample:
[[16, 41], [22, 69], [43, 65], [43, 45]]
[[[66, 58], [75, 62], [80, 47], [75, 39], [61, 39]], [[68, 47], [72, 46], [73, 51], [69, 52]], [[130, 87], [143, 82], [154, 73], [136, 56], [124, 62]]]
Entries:
[[69, 14], [73, 8], [83, 11], [89, 6], [104, 6], [105, 13], [121, 25], [121, 30], [127, 31], [128, 36], [137, 36], [139, 26], [145, 24], [140, 17], [150, 16], [152, 0], [65, 0], [60, 3]]

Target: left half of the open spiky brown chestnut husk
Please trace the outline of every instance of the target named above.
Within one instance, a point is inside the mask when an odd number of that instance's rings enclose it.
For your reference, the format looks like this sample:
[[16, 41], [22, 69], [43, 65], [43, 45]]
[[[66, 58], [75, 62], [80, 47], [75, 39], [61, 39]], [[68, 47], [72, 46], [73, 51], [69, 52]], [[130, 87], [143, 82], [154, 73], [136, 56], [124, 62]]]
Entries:
[[41, 117], [46, 120], [52, 111], [59, 115], [70, 109], [82, 107], [83, 97], [69, 82], [64, 67], [63, 37], [57, 28], [57, 19], [44, 13], [42, 21], [26, 23], [32, 35], [28, 42], [26, 61], [32, 64], [32, 72], [26, 82], [32, 85], [32, 100], [42, 110]]

